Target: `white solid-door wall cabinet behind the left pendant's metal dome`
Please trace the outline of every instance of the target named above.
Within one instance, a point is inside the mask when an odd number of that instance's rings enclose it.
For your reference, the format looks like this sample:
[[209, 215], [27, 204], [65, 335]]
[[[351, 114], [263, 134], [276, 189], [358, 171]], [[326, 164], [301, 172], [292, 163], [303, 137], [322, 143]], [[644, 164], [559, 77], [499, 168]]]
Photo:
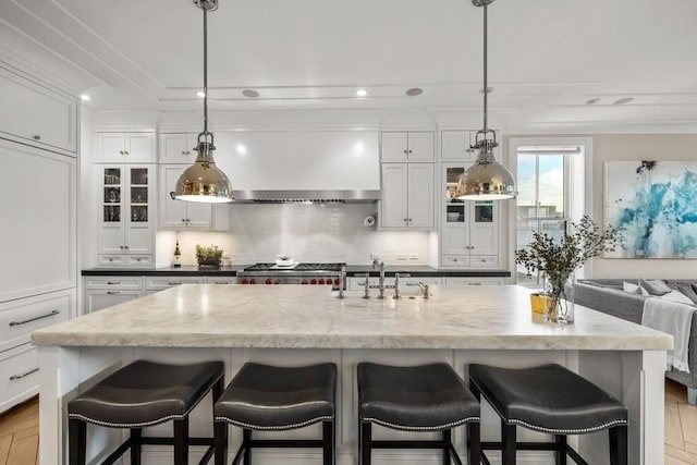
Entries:
[[187, 167], [184, 164], [160, 164], [159, 212], [160, 229], [200, 228], [212, 225], [212, 206], [210, 204], [175, 200], [171, 193], [176, 187], [179, 176]]

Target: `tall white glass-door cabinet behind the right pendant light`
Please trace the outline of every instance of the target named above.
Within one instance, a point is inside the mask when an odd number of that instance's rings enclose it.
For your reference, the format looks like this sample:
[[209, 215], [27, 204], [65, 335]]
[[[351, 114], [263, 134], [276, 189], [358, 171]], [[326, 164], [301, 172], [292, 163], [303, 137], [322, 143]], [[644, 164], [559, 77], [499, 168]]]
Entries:
[[462, 163], [442, 163], [445, 196], [442, 201], [441, 266], [444, 268], [499, 268], [500, 212], [496, 201], [455, 198]]

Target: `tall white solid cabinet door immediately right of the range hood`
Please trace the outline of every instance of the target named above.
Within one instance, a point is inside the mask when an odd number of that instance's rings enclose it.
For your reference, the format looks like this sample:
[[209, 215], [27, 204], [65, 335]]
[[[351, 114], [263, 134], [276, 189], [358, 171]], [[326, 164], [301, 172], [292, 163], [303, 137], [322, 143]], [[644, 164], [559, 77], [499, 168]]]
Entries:
[[382, 163], [382, 199], [379, 217], [382, 228], [407, 227], [407, 180], [406, 163]]

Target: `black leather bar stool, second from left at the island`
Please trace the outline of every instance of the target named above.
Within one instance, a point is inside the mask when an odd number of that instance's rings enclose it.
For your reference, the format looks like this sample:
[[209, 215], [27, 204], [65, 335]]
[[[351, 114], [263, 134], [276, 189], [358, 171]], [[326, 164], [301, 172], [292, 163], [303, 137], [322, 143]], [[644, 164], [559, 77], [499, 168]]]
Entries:
[[[274, 367], [246, 363], [213, 408], [216, 465], [228, 457], [228, 425], [242, 428], [233, 464], [252, 464], [253, 448], [321, 448], [334, 463], [337, 366]], [[253, 439], [252, 431], [281, 431], [322, 423], [322, 439]]]

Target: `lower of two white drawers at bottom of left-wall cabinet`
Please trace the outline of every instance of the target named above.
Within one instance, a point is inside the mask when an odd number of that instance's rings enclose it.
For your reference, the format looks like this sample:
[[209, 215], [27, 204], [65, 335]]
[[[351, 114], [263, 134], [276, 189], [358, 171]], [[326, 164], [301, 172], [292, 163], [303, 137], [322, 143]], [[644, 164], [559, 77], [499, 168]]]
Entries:
[[0, 354], [0, 412], [38, 392], [38, 370], [36, 347], [32, 344]]

